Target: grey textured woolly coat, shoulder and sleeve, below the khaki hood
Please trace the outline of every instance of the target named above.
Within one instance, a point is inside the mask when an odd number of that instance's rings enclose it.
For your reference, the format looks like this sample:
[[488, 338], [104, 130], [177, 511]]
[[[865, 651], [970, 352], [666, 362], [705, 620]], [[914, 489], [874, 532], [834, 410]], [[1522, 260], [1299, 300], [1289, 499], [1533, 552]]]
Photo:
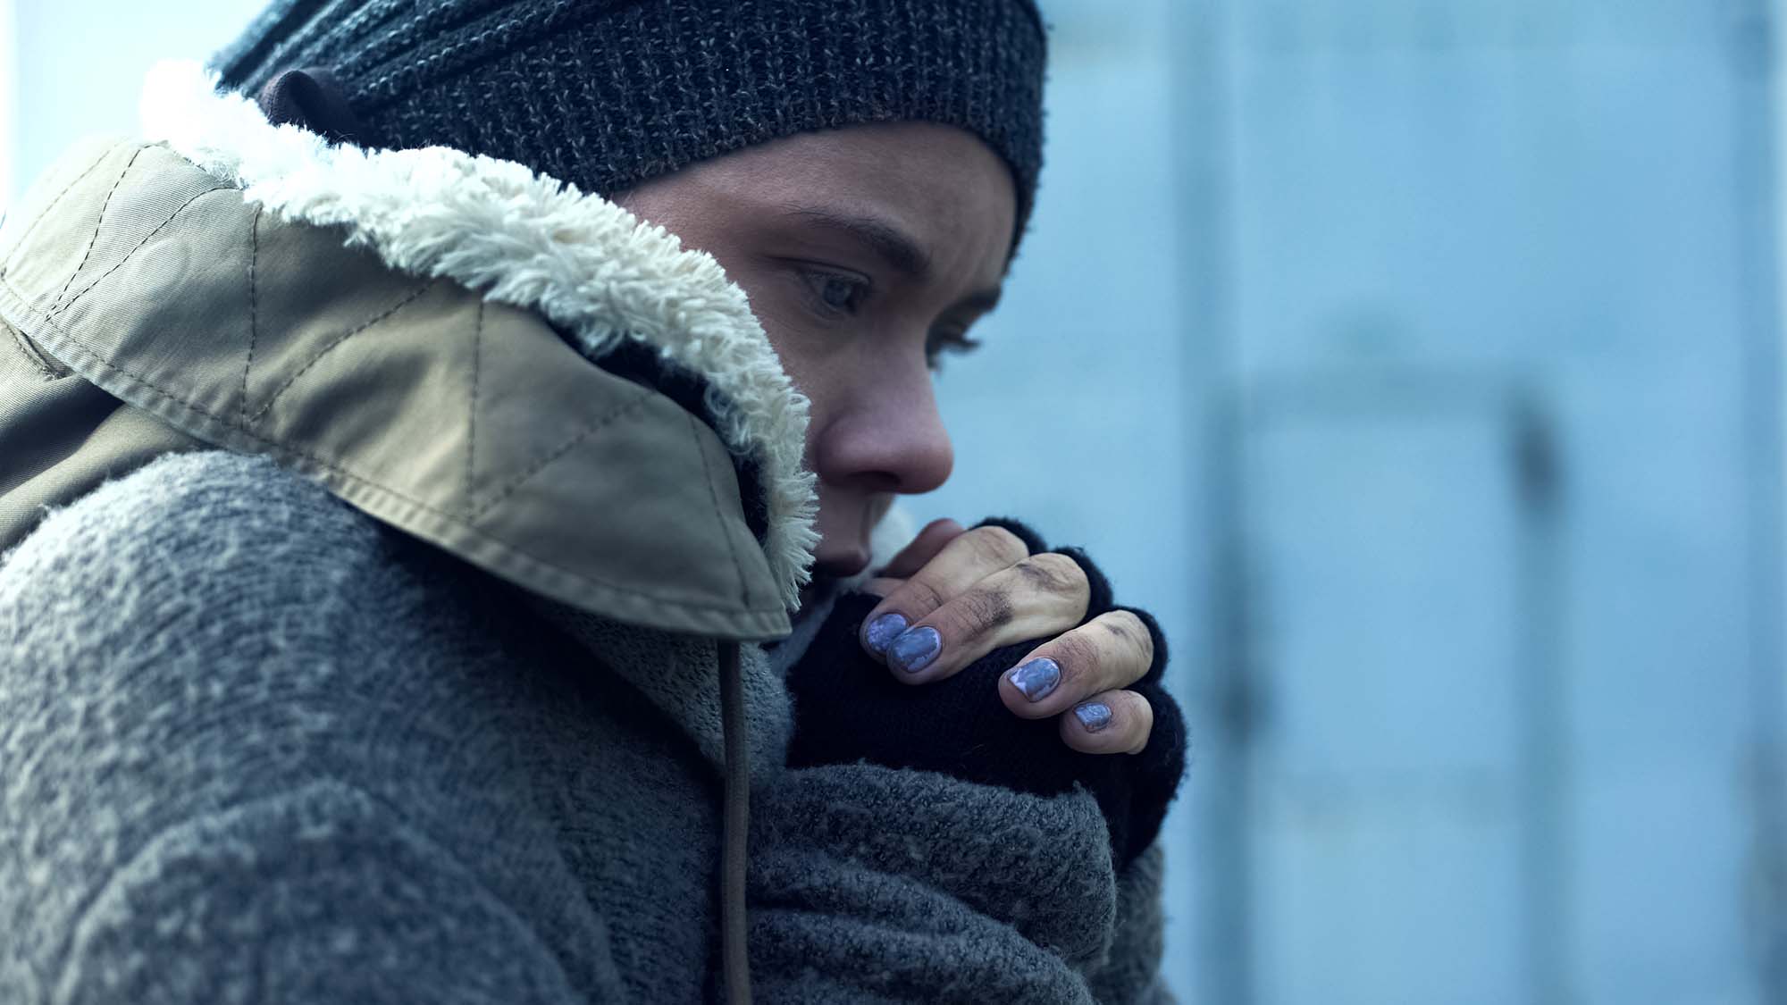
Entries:
[[[177, 454], [0, 565], [0, 1000], [713, 1000], [713, 765], [490, 576]], [[617, 651], [618, 653], [618, 651]], [[876, 765], [752, 805], [765, 1001], [1158, 1001], [1158, 853]]]

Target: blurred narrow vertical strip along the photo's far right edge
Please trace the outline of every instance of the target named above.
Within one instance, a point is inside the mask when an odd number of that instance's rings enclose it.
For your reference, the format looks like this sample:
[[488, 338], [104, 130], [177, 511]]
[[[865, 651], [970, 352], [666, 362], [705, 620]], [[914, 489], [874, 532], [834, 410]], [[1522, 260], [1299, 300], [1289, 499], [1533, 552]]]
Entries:
[[1787, 506], [1783, 506], [1783, 479], [1787, 479], [1787, 370], [1782, 367], [1782, 315], [1787, 309], [1782, 277], [1782, 234], [1787, 232], [1780, 213], [1783, 141], [1780, 120], [1787, 100], [1782, 100], [1782, 18], [1780, 0], [1749, 0], [1733, 25], [1733, 63], [1741, 86], [1737, 100], [1739, 122], [1753, 122], [1755, 129], [1741, 129], [1737, 165], [1737, 198], [1746, 211], [1749, 227], [1742, 231], [1744, 263], [1746, 367], [1744, 367], [1744, 427], [1749, 454], [1749, 597], [1751, 597], [1751, 667], [1753, 667], [1753, 751], [1751, 785], [1755, 828], [1751, 839], [1751, 932], [1760, 978], [1760, 1001], [1787, 1005], [1787, 590], [1782, 579], [1787, 572]]

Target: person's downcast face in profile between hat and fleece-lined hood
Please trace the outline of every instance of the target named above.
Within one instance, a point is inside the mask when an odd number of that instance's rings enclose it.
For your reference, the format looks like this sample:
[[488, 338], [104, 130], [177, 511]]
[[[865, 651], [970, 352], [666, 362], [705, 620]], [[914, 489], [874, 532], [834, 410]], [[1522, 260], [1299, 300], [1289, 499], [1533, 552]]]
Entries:
[[620, 204], [709, 252], [751, 297], [813, 402], [817, 574], [861, 570], [894, 495], [949, 477], [931, 379], [999, 299], [1011, 173], [965, 131], [876, 123], [749, 147]]

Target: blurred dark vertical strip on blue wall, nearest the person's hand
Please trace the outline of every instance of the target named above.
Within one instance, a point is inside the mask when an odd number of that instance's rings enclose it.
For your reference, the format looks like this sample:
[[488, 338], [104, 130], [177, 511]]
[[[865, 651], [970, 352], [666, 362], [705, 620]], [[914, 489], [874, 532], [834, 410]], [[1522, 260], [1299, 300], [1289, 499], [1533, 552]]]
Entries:
[[[1185, 277], [1181, 281], [1185, 340], [1185, 386], [1192, 390], [1181, 417], [1190, 426], [1187, 442], [1197, 443], [1203, 515], [1201, 535], [1213, 554], [1206, 556], [1208, 610], [1188, 612], [1208, 619], [1208, 651], [1203, 653], [1204, 687], [1196, 703], [1204, 710], [1204, 735], [1196, 744], [1192, 812], [1203, 848], [1194, 857], [1201, 871], [1196, 907], [1199, 987], [1196, 1001], [1246, 1005], [1253, 1000], [1249, 835], [1247, 835], [1247, 742], [1253, 701], [1246, 672], [1246, 608], [1240, 545], [1240, 436], [1238, 358], [1228, 309], [1228, 279], [1233, 266], [1229, 222], [1229, 168], [1233, 165], [1229, 106], [1229, 25], [1222, 0], [1190, 0], [1172, 5], [1172, 30], [1181, 57], [1174, 63], [1172, 122], [1179, 125], [1174, 147], [1178, 175], [1178, 240]], [[1196, 737], [1194, 737], [1196, 740]]]

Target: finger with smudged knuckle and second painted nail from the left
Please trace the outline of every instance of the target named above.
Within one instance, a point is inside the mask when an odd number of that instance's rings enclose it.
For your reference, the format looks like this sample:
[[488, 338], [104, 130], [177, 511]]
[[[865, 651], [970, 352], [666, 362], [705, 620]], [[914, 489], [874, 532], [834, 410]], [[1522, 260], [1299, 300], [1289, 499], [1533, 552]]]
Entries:
[[1031, 554], [895, 637], [886, 649], [888, 667], [904, 683], [947, 678], [1001, 646], [1074, 628], [1086, 617], [1086, 576], [1072, 558]]

